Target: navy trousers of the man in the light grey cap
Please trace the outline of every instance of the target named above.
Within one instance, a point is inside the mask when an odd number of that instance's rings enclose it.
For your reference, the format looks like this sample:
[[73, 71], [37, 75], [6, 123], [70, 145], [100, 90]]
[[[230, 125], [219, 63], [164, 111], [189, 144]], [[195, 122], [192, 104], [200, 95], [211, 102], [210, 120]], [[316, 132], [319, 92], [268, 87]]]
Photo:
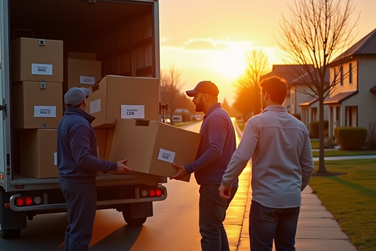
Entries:
[[88, 251], [97, 211], [97, 183], [59, 181], [68, 209], [64, 251]]

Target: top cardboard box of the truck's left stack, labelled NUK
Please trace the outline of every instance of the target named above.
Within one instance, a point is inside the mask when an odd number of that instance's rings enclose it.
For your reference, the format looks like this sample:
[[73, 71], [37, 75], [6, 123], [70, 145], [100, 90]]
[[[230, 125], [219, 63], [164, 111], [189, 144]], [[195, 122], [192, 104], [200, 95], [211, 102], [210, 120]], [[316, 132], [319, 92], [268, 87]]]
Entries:
[[63, 41], [17, 38], [11, 41], [11, 81], [63, 82]]

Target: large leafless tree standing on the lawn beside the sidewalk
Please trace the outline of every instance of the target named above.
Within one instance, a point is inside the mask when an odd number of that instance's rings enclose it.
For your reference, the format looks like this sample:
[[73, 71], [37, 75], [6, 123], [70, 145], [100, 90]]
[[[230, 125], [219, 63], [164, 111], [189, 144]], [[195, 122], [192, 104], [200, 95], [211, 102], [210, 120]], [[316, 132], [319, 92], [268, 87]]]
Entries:
[[[351, 0], [297, 0], [289, 6], [291, 19], [282, 15], [281, 41], [277, 41], [282, 58], [288, 64], [302, 65], [305, 73], [296, 77], [307, 88], [297, 90], [319, 101], [319, 166], [318, 173], [325, 173], [324, 165], [324, 99], [330, 95], [340, 81], [335, 71], [334, 78], [325, 83], [329, 62], [341, 53], [346, 53], [353, 43], [354, 28], [350, 22], [354, 8]], [[342, 67], [340, 62], [340, 67]]]

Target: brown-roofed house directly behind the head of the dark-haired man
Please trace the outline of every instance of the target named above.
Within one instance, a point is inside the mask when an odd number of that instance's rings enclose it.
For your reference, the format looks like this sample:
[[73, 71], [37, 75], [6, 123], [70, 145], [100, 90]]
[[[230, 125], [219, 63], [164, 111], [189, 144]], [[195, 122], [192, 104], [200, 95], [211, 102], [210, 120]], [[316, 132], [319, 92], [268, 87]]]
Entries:
[[[284, 102], [284, 106], [286, 106], [287, 110], [291, 114], [293, 114], [291, 112], [291, 107], [293, 107], [296, 104], [294, 103], [296, 94], [294, 93], [291, 96], [290, 87], [293, 85], [293, 81], [296, 79], [296, 76], [299, 75], [297, 74], [297, 72], [301, 72], [302, 74], [304, 73], [304, 68], [302, 67], [302, 65], [274, 64], [271, 72], [261, 77], [261, 80], [265, 78], [270, 78], [273, 76], [286, 79], [289, 89], [287, 91], [287, 96]], [[293, 103], [291, 103], [291, 100], [294, 100]]]

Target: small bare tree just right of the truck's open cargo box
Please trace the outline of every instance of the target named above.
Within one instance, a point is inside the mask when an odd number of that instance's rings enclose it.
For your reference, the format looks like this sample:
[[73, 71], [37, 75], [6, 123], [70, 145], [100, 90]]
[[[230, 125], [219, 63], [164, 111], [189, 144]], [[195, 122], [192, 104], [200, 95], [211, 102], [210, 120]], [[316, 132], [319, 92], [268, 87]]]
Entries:
[[168, 103], [168, 112], [172, 122], [172, 116], [176, 110], [178, 99], [181, 98], [181, 88], [184, 83], [181, 81], [182, 73], [176, 70], [175, 65], [171, 64], [167, 71], [161, 71], [161, 100], [162, 103]]

